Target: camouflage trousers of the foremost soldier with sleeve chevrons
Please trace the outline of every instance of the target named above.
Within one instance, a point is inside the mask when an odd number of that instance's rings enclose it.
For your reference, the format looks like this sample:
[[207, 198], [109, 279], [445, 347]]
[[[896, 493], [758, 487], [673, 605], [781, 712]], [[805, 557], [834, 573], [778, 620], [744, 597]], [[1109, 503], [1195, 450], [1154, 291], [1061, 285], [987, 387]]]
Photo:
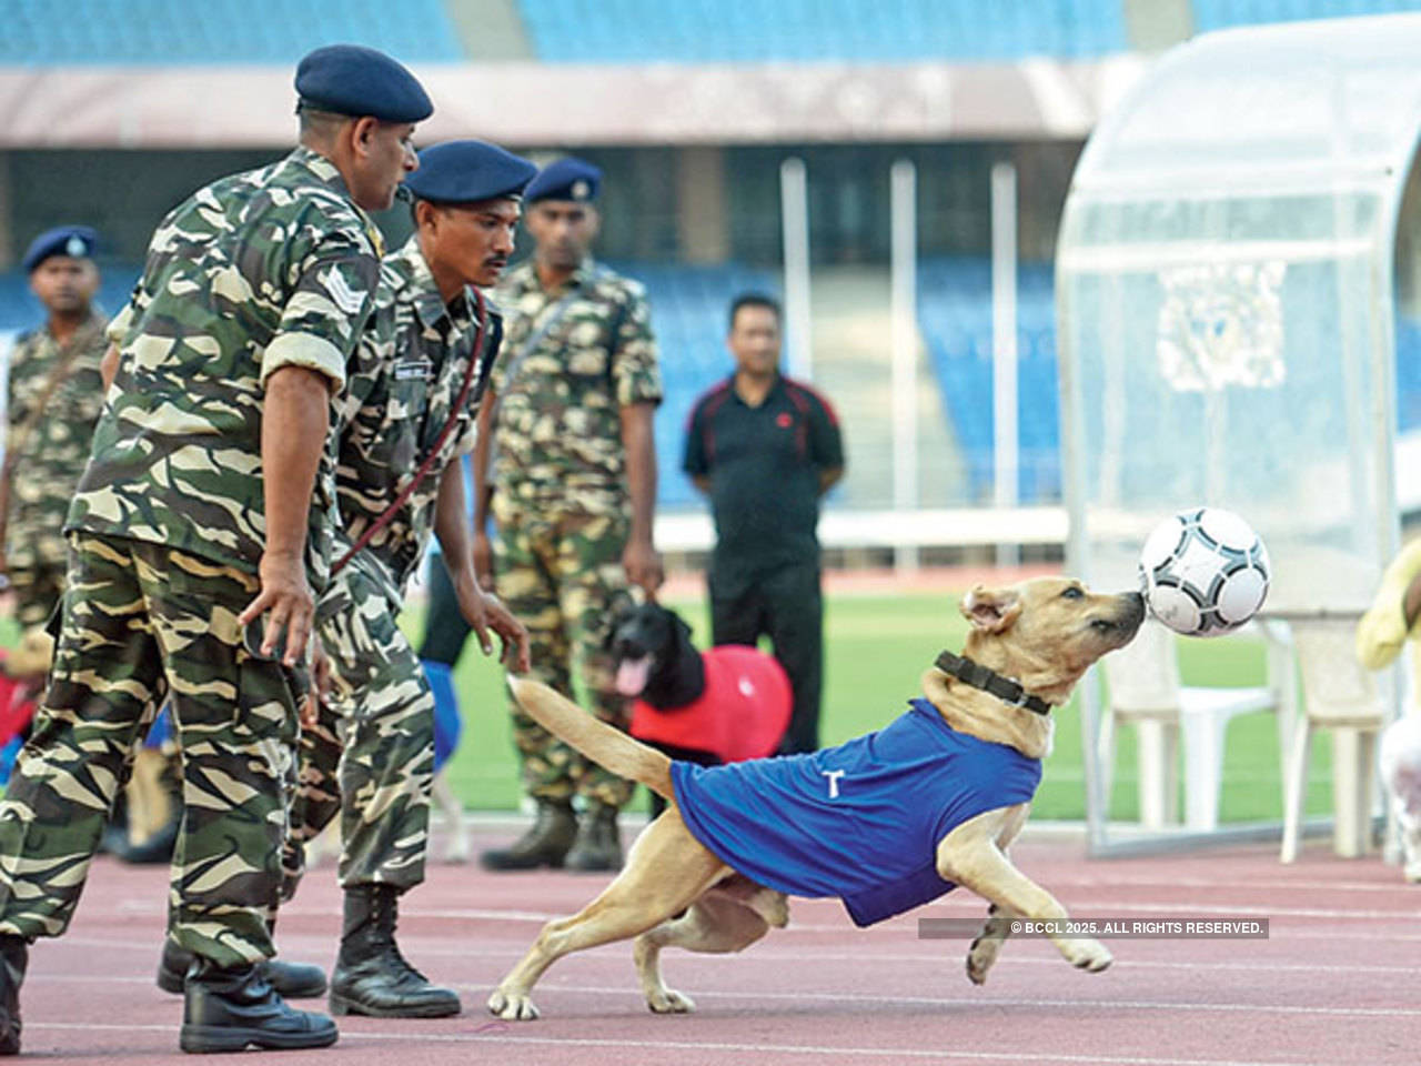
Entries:
[[57, 937], [128, 776], [169, 699], [186, 817], [172, 935], [220, 967], [271, 955], [297, 738], [288, 671], [243, 648], [257, 580], [121, 537], [72, 534], [50, 688], [0, 803], [0, 932]]

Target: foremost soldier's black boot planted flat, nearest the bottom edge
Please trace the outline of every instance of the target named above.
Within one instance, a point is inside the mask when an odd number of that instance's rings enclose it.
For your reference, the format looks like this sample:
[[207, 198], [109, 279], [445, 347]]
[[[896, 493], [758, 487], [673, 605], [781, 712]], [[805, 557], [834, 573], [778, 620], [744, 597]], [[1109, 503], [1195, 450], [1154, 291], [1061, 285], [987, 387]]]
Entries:
[[257, 967], [219, 969], [199, 958], [188, 971], [178, 1036], [185, 1052], [325, 1048], [337, 1036], [325, 1015], [287, 1006]]

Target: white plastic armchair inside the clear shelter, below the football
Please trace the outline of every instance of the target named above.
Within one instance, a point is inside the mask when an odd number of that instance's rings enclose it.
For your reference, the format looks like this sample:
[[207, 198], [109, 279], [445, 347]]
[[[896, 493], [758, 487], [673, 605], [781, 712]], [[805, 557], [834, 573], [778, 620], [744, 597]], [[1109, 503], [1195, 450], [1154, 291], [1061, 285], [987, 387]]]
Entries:
[[[1162, 829], [1178, 822], [1179, 736], [1184, 736], [1185, 827], [1208, 831], [1219, 823], [1223, 738], [1236, 715], [1277, 714], [1279, 762], [1297, 716], [1296, 684], [1287, 630], [1262, 623], [1268, 638], [1269, 684], [1256, 688], [1209, 688], [1179, 684], [1175, 635], [1147, 618], [1127, 647], [1104, 661], [1110, 702], [1106, 708], [1100, 759], [1110, 796], [1118, 722], [1135, 726], [1140, 766], [1140, 823]], [[1108, 800], [1107, 800], [1108, 802]]]

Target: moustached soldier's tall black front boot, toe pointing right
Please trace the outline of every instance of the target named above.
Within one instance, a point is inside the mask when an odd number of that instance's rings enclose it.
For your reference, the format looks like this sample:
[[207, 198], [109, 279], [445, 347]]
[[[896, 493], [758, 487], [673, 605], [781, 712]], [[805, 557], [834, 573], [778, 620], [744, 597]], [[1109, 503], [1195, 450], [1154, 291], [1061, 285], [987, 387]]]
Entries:
[[399, 954], [396, 900], [388, 884], [345, 890], [345, 928], [331, 971], [331, 1013], [371, 1018], [448, 1018], [462, 1011], [459, 996], [438, 988]]

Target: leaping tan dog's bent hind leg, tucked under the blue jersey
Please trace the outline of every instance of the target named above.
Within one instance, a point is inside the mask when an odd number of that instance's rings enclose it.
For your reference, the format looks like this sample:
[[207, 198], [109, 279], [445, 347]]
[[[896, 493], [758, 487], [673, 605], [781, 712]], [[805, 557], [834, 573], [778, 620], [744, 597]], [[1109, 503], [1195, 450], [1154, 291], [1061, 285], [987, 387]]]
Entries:
[[760, 885], [752, 887], [757, 891], [746, 895], [743, 891], [723, 891], [716, 885], [691, 904], [685, 914], [637, 937], [632, 958], [652, 1013], [689, 1013], [696, 1009], [691, 996], [666, 988], [661, 976], [662, 948], [710, 954], [745, 951], [772, 927], [784, 927], [789, 921], [784, 897]]

